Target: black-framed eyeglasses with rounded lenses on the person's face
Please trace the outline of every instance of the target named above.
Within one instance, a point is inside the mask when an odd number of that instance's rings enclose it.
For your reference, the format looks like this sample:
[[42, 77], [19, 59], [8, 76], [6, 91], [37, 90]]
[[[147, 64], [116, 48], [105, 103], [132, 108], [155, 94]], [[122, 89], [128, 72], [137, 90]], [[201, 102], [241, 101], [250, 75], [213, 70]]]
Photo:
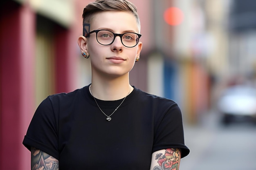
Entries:
[[115, 41], [115, 38], [119, 36], [121, 38], [121, 42], [124, 46], [128, 48], [135, 47], [138, 42], [141, 34], [138, 33], [123, 33], [116, 34], [109, 30], [93, 30], [90, 33], [86, 34], [85, 37], [88, 37], [91, 33], [96, 33], [97, 42], [101, 45], [110, 45]]

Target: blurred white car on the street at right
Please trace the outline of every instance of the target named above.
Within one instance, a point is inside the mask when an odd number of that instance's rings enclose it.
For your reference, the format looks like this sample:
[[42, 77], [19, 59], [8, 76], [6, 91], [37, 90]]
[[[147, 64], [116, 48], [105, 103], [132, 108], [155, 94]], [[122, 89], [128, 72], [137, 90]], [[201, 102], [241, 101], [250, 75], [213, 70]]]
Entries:
[[217, 106], [224, 124], [244, 119], [256, 123], [256, 88], [231, 86], [222, 93]]

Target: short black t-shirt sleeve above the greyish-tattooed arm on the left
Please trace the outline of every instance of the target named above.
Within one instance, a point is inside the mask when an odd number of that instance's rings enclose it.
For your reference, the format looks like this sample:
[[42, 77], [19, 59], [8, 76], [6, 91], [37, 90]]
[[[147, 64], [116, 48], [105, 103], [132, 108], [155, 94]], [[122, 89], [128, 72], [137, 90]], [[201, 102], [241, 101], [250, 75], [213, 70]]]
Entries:
[[47, 97], [36, 109], [22, 144], [29, 150], [35, 147], [59, 159], [57, 121], [52, 102]]

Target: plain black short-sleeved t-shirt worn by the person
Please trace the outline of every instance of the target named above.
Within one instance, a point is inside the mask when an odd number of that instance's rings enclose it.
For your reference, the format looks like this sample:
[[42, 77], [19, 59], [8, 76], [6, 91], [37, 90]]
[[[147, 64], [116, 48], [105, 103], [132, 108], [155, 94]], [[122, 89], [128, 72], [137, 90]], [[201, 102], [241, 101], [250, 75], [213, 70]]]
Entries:
[[[47, 97], [37, 108], [23, 144], [59, 160], [60, 170], [149, 170], [152, 153], [184, 145], [182, 114], [175, 102], [137, 88], [111, 116], [99, 110], [89, 86]], [[110, 115], [123, 99], [97, 99]]]

